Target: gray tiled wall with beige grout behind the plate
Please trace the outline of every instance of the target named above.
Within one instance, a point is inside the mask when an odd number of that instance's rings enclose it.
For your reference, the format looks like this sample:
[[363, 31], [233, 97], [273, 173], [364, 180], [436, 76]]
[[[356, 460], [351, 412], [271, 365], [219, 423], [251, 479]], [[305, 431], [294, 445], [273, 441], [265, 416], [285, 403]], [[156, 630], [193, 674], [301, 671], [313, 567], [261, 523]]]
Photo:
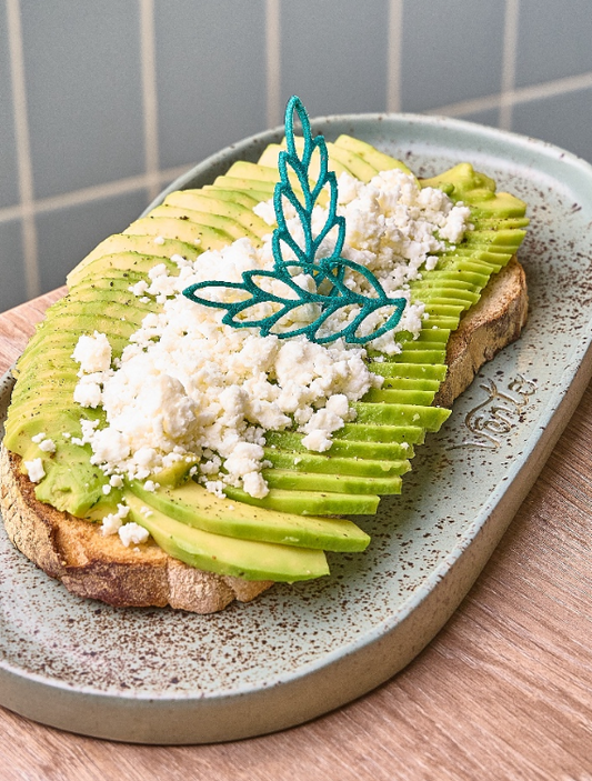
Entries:
[[0, 310], [282, 120], [443, 113], [592, 161], [592, 0], [0, 0]]

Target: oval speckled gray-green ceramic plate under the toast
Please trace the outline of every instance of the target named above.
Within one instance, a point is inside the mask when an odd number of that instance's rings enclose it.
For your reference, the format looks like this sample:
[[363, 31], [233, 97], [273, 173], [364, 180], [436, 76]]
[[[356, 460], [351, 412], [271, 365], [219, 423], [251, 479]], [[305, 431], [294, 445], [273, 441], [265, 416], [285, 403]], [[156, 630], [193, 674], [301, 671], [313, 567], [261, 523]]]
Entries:
[[[31, 719], [113, 740], [192, 743], [287, 728], [342, 705], [404, 667], [469, 590], [539, 473], [592, 373], [592, 168], [554, 147], [429, 117], [342, 117], [315, 130], [363, 138], [420, 174], [459, 161], [530, 203], [521, 250], [531, 314], [438, 435], [404, 495], [362, 520], [364, 554], [332, 574], [277, 585], [199, 617], [114, 610], [70, 595], [0, 538], [0, 702]], [[257, 159], [249, 139], [174, 187]], [[10, 383], [0, 399], [6, 410]]]

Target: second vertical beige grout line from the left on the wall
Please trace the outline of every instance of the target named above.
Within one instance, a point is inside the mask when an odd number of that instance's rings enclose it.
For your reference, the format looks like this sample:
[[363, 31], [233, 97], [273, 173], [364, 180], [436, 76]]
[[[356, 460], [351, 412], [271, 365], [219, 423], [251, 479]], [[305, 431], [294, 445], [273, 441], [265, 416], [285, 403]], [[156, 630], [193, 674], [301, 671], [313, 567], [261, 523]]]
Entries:
[[159, 141], [154, 0], [139, 0], [140, 59], [144, 120], [144, 161], [149, 199], [159, 193]]

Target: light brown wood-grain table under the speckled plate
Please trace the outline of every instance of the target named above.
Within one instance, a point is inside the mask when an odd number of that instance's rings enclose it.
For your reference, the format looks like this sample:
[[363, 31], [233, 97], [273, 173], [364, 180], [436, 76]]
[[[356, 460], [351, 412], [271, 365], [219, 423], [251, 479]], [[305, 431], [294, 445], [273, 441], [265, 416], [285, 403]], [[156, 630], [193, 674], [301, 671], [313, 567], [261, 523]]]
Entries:
[[[0, 364], [60, 291], [0, 314]], [[237, 743], [82, 738], [0, 709], [0, 778], [592, 779], [592, 386], [460, 609], [403, 672], [302, 727]]]

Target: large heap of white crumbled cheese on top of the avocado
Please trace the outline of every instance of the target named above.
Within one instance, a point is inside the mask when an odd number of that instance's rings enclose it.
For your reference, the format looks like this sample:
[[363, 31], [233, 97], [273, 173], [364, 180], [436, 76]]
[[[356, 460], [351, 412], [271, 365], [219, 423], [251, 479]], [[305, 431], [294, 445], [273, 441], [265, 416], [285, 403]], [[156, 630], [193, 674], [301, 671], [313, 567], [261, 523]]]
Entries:
[[[285, 203], [288, 228], [297, 241], [304, 241], [300, 218]], [[254, 209], [270, 226], [275, 222], [273, 201]], [[423, 270], [434, 268], [445, 241], [458, 242], [469, 210], [454, 206], [440, 190], [420, 189], [413, 177], [400, 170], [384, 171], [369, 183], [348, 174], [339, 178], [338, 213], [345, 218], [347, 234], [342, 256], [370, 269], [392, 298], [408, 304], [392, 331], [372, 340], [371, 347], [395, 354], [401, 347], [399, 331], [419, 334], [428, 314], [420, 301], [410, 302], [409, 282]], [[312, 229], [319, 236], [327, 222], [327, 210], [315, 207]], [[161, 237], [154, 241], [160, 243]], [[323, 238], [319, 254], [333, 251], [337, 236]], [[162, 239], [163, 241], [163, 239]], [[291, 250], [284, 248], [284, 259]], [[208, 250], [190, 261], [173, 256], [175, 273], [164, 263], [153, 267], [148, 281], [130, 290], [140, 300], [154, 297], [160, 312], [147, 314], [131, 337], [121, 359], [113, 361], [104, 334], [81, 337], [74, 350], [80, 362], [80, 382], [74, 399], [84, 407], [102, 404], [107, 423], [82, 425], [77, 443], [89, 443], [91, 461], [113, 480], [146, 480], [158, 475], [175, 460], [192, 465], [191, 475], [217, 495], [228, 485], [242, 487], [252, 497], [268, 492], [262, 470], [267, 430], [295, 428], [304, 434], [305, 448], [324, 452], [332, 437], [353, 420], [351, 403], [383, 378], [373, 374], [364, 359], [365, 350], [338, 339], [329, 346], [309, 341], [304, 336], [282, 340], [277, 334], [260, 336], [252, 329], [233, 329], [222, 323], [219, 309], [199, 307], [182, 291], [203, 281], [239, 282], [244, 271], [273, 268], [271, 231], [263, 246], [239, 239], [220, 250]], [[175, 276], [177, 274], [177, 276]], [[280, 281], [260, 278], [278, 296], [295, 297]], [[314, 292], [310, 274], [295, 273], [292, 282]], [[359, 293], [372, 293], [363, 274], [348, 269], [344, 283]], [[209, 290], [212, 300], [241, 300], [235, 288]], [[250, 317], [267, 317], [274, 303], [260, 303]], [[372, 333], [390, 317], [384, 307], [365, 319], [361, 332]], [[319, 314], [318, 304], [303, 304], [282, 319], [281, 328], [305, 326]], [[321, 327], [320, 336], [345, 328], [359, 314], [355, 304], [343, 307]], [[280, 326], [279, 326], [280, 327]], [[378, 362], [383, 359], [378, 357]]]

